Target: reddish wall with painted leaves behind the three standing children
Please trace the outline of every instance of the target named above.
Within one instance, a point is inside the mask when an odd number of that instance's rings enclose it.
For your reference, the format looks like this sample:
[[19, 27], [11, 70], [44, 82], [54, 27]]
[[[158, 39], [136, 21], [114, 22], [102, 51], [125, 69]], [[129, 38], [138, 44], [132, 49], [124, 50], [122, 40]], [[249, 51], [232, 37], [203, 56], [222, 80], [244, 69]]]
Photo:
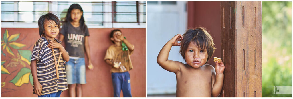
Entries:
[[[19, 38], [14, 41], [25, 44], [20, 50], [33, 50], [33, 45], [40, 38], [38, 28], [1, 28], [1, 39], [3, 40], [5, 29], [9, 36], [18, 34]], [[110, 41], [110, 31], [112, 28], [90, 28], [89, 44], [94, 70], [86, 69], [87, 84], [82, 86], [83, 97], [113, 97], [113, 86], [110, 73], [110, 66], [104, 61], [107, 48], [113, 44]], [[131, 60], [134, 69], [130, 70], [131, 91], [133, 97], [146, 97], [146, 29], [145, 28], [120, 28], [123, 35], [132, 43], [134, 53]], [[9, 37], [8, 37], [9, 38]], [[3, 43], [3, 42], [2, 42]], [[10, 42], [9, 42], [10, 43]], [[30, 82], [26, 83], [25, 77], [21, 86], [15, 86], [11, 81], [23, 67], [30, 68], [30, 65], [17, 60], [18, 50], [11, 48], [14, 56], [9, 54], [1, 46], [1, 61], [6, 61], [3, 65], [11, 75], [1, 74], [1, 97], [37, 97], [33, 95], [33, 86]], [[5, 54], [5, 55], [4, 55]], [[30, 53], [31, 54], [31, 53]], [[23, 66], [24, 65], [24, 66]], [[86, 59], [86, 65], [87, 59]], [[5, 84], [3, 83], [5, 82]], [[60, 97], [68, 97], [68, 90], [63, 91]], [[123, 96], [122, 93], [120, 96]]]

